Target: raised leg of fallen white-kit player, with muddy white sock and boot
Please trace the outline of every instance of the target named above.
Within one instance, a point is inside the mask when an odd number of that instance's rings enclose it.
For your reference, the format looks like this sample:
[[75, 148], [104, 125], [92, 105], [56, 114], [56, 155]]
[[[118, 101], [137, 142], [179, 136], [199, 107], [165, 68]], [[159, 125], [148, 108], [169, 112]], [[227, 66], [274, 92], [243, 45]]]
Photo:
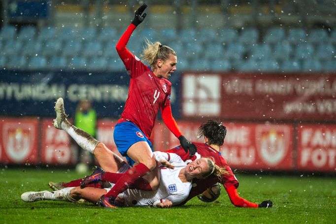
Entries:
[[63, 98], [57, 99], [55, 112], [56, 119], [54, 119], [54, 127], [67, 131], [82, 149], [93, 153], [105, 171], [118, 172], [118, 170], [126, 164], [118, 155], [109, 150], [105, 144], [99, 142], [84, 130], [71, 125], [67, 121]]

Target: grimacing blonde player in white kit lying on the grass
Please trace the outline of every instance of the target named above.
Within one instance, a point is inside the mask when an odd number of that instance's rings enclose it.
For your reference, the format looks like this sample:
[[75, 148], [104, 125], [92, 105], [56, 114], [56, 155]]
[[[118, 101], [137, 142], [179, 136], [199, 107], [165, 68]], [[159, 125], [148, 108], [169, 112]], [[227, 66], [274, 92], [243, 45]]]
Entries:
[[[187, 165], [176, 154], [154, 152], [155, 159], [165, 166], [160, 166], [160, 185], [156, 191], [143, 191], [128, 189], [118, 195], [114, 204], [108, 200], [100, 200], [101, 195], [109, 189], [87, 187], [81, 189], [65, 188], [59, 191], [48, 192], [25, 192], [21, 199], [26, 202], [39, 200], [76, 201], [85, 199], [104, 207], [115, 208], [116, 206], [154, 206], [169, 208], [178, 205], [185, 200], [192, 186], [193, 178], [206, 178], [211, 174], [222, 175], [223, 168], [218, 167], [209, 158], [194, 160]], [[118, 174], [116, 174], [118, 175]], [[107, 204], [106, 204], [107, 203]]]

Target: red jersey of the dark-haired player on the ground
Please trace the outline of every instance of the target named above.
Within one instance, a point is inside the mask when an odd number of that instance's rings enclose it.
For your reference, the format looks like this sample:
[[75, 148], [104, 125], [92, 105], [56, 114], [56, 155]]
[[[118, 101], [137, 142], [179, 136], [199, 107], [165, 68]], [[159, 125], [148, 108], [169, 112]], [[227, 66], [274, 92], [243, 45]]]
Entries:
[[229, 188], [230, 186], [235, 186], [235, 188], [238, 188], [239, 185], [238, 180], [235, 178], [235, 175], [233, 174], [230, 166], [227, 164], [227, 162], [221, 156], [221, 154], [205, 143], [198, 143], [198, 142], [193, 143], [197, 147], [197, 153], [193, 157], [190, 157], [189, 152], [186, 153], [181, 146], [177, 146], [173, 149], [170, 149], [167, 152], [179, 155], [183, 161], [188, 160], [193, 161], [199, 159], [200, 157], [212, 157], [215, 160], [216, 165], [220, 167], [226, 167], [226, 170], [231, 175], [222, 175], [222, 180], [219, 180], [217, 177], [211, 177], [211, 178], [209, 177], [206, 179], [196, 179], [196, 178], [193, 179], [193, 185], [189, 193], [189, 196], [180, 205], [185, 204], [188, 200], [201, 194], [202, 192], [204, 192], [206, 189], [211, 187], [213, 184], [216, 184], [217, 182], [222, 183], [225, 189]]

